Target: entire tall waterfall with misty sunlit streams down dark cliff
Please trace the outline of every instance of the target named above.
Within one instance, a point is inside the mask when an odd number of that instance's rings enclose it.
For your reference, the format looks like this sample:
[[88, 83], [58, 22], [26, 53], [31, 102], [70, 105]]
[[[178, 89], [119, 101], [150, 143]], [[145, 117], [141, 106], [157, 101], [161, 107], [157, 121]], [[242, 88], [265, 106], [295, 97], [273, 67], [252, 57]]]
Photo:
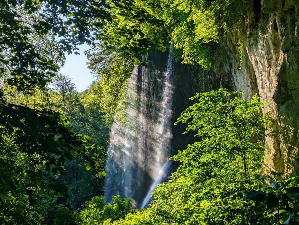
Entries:
[[[147, 61], [147, 57], [143, 60]], [[173, 45], [164, 73], [159, 74], [150, 66], [134, 66], [127, 82], [110, 131], [106, 203], [111, 202], [113, 195], [120, 195], [131, 198], [134, 207], [144, 207], [155, 186], [167, 177], [172, 108]]]

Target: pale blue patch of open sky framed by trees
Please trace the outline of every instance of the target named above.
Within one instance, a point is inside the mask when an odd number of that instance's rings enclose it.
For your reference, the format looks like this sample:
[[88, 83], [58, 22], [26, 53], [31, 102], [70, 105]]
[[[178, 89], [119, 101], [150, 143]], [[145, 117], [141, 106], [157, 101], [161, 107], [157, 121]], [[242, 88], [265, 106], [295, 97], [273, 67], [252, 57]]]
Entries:
[[78, 48], [80, 55], [65, 53], [65, 64], [64, 67], [60, 68], [59, 73], [71, 77], [77, 90], [81, 92], [86, 90], [96, 78], [91, 75], [86, 65], [87, 57], [84, 55], [84, 50], [88, 49], [88, 45], [80, 45]]

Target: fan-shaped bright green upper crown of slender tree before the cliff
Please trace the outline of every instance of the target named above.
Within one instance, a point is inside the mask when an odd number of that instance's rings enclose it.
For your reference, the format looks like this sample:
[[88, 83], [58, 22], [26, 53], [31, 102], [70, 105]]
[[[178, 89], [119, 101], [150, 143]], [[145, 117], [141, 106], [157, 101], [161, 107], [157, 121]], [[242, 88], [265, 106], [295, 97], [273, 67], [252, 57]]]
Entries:
[[[260, 116], [261, 107], [266, 102], [261, 102], [257, 95], [247, 101], [239, 99], [237, 94], [244, 93], [241, 91], [229, 93], [225, 89], [219, 89], [196, 94], [191, 99], [199, 98], [199, 102], [187, 108], [176, 124], [190, 120], [184, 134], [196, 130], [195, 136], [202, 138], [202, 144], [213, 143], [214, 149], [241, 157], [244, 175], [250, 183], [250, 169], [246, 157], [254, 152], [260, 155], [260, 152], [264, 151], [263, 136], [270, 120], [268, 115]], [[250, 160], [259, 163], [258, 160]]]

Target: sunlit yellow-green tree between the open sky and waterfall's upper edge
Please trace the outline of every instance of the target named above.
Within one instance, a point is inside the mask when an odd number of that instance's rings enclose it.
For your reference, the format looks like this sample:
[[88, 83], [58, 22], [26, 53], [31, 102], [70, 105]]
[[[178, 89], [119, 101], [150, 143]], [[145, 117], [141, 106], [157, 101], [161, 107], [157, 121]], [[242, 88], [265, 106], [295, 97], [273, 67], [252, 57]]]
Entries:
[[[105, 123], [110, 127], [121, 94], [126, 89], [126, 82], [132, 75], [134, 58], [117, 47], [98, 45], [86, 51], [88, 67], [99, 81], [94, 83], [88, 93], [97, 95], [97, 110], [103, 114]], [[91, 102], [87, 100], [89, 105]]]

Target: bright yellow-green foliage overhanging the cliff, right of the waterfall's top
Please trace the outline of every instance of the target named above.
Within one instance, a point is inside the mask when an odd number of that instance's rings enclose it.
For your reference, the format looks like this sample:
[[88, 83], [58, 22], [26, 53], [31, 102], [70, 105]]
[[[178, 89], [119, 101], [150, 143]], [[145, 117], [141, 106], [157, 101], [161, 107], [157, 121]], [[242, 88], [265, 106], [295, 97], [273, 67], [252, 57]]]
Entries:
[[242, 1], [171, 0], [163, 5], [162, 18], [174, 47], [182, 50], [182, 62], [208, 69], [215, 61], [219, 30], [237, 22]]

